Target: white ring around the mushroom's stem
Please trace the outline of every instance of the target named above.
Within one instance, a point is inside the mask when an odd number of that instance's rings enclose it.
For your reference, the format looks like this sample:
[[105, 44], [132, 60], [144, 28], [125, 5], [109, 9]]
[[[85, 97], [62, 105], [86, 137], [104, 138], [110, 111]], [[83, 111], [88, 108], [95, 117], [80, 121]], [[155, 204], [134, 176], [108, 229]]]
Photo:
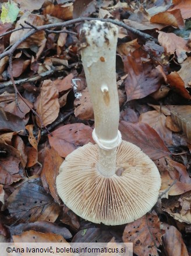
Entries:
[[122, 142], [121, 132], [118, 130], [118, 135], [113, 140], [100, 140], [97, 137], [97, 134], [95, 133], [95, 129], [92, 133], [93, 140], [95, 143], [98, 144], [98, 146], [103, 150], [112, 150], [113, 148], [118, 147]]

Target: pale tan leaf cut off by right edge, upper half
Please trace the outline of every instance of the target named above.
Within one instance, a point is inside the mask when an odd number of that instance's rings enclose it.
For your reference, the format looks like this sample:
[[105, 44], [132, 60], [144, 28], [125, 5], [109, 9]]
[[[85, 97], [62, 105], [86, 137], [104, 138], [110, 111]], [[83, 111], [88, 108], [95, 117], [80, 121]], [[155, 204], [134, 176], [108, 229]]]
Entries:
[[186, 58], [186, 60], [181, 64], [181, 69], [178, 71], [179, 76], [185, 83], [185, 87], [191, 87], [191, 57]]

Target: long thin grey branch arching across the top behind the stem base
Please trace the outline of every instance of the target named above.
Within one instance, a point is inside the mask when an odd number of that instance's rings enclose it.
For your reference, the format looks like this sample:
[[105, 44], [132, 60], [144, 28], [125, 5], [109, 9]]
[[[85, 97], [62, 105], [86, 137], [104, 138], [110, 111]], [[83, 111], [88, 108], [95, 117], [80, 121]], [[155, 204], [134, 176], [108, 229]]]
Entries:
[[[38, 31], [41, 31], [41, 30], [46, 30], [46, 29], [52, 29], [54, 27], [66, 27], [66, 26], [69, 26], [69, 25], [72, 25], [72, 24], [75, 24], [75, 23], [84, 22], [86, 20], [100, 20], [102, 22], [111, 22], [111, 23], [113, 23], [113, 24], [115, 24], [117, 26], [120, 26], [120, 27], [125, 28], [126, 30], [129, 30], [132, 33], [137, 34], [138, 36], [144, 37], [144, 39], [156, 41], [156, 39], [153, 36], [150, 36], [150, 34], [143, 33], [140, 30], [134, 29], [133, 27], [130, 27], [130, 26], [126, 25], [123, 22], [118, 22], [118, 21], [112, 20], [112, 19], [77, 18], [77, 19], [73, 19], [73, 20], [68, 20], [66, 22], [60, 22], [60, 23], [54, 23], [54, 24], [48, 24], [48, 25], [39, 26], [39, 27], [37, 27], [37, 29], [38, 29]], [[21, 44], [24, 40], [26, 40], [27, 38], [29, 38], [30, 36], [32, 36], [36, 32], [37, 32], [36, 29], [31, 29], [21, 39], [17, 40], [12, 45], [12, 47], [10, 47], [9, 50], [7, 50], [7, 51], [3, 52], [2, 54], [0, 54], [0, 60], [3, 57], [6, 57], [6, 56], [9, 56], [9, 55], [13, 54], [13, 52], [19, 46], [19, 44]]]

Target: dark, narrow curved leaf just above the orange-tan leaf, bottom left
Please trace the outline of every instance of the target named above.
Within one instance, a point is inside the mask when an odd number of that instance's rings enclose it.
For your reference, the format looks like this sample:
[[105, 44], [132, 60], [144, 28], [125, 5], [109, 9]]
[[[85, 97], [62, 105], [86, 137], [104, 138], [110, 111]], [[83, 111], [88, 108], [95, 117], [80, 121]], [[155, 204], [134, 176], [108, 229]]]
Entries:
[[58, 224], [52, 222], [34, 222], [34, 223], [20, 223], [14, 226], [14, 229], [10, 227], [9, 232], [11, 236], [23, 233], [24, 231], [34, 230], [41, 233], [54, 233], [63, 236], [65, 239], [72, 238], [72, 234], [66, 227], [58, 226]]

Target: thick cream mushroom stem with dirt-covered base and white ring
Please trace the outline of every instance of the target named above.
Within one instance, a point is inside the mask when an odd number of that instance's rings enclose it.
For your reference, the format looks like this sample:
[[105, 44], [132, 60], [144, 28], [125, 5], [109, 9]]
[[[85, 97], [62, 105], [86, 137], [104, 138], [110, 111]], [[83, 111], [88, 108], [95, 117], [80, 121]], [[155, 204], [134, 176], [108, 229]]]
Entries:
[[82, 62], [94, 108], [93, 139], [98, 144], [98, 171], [116, 172], [116, 148], [121, 143], [115, 54], [118, 28], [107, 22], [84, 23], [80, 32]]

